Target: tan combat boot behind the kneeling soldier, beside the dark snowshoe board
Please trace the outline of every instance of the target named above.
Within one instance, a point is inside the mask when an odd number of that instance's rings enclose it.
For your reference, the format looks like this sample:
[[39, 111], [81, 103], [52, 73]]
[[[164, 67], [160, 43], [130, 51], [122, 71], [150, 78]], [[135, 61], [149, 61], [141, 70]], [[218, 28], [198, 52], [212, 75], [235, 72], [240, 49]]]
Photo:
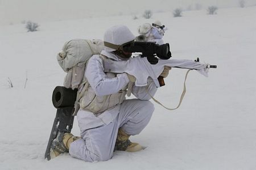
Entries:
[[57, 136], [52, 142], [53, 150], [50, 152], [51, 159], [62, 153], [68, 152], [71, 143], [79, 138], [80, 137], [75, 137], [71, 133], [64, 133], [62, 140]]

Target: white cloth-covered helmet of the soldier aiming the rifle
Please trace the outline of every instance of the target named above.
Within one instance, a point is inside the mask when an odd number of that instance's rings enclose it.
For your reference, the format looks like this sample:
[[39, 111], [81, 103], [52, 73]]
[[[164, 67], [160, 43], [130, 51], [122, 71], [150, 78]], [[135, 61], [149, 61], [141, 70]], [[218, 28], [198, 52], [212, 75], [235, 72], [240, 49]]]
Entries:
[[[114, 45], [122, 45], [126, 42], [133, 41], [135, 36], [131, 33], [130, 29], [125, 25], [116, 25], [106, 30], [104, 34], [104, 41]], [[107, 52], [113, 52], [116, 49], [105, 46]]]

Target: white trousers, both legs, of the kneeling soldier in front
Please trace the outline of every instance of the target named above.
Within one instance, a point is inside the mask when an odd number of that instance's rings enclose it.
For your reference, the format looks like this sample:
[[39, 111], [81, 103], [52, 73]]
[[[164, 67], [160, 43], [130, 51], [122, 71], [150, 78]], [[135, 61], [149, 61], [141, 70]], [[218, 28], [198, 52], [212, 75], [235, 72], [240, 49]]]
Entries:
[[130, 135], [139, 134], [150, 121], [153, 111], [154, 105], [150, 101], [125, 100], [113, 122], [82, 130], [82, 139], [71, 143], [69, 154], [86, 162], [109, 160], [113, 156], [118, 129], [122, 127]]

